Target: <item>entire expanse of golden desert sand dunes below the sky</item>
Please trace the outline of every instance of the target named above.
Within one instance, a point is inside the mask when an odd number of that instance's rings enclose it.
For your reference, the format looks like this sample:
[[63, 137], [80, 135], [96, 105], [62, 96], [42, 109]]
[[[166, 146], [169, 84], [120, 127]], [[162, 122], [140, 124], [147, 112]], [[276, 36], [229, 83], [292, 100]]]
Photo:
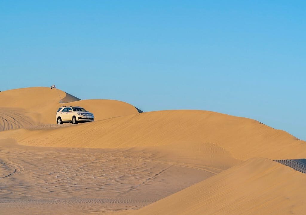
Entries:
[[287, 132], [114, 100], [67, 103], [95, 122], [56, 125], [59, 100], [47, 87], [0, 92], [0, 214], [306, 212], [306, 175], [273, 161], [306, 158], [305, 142]]

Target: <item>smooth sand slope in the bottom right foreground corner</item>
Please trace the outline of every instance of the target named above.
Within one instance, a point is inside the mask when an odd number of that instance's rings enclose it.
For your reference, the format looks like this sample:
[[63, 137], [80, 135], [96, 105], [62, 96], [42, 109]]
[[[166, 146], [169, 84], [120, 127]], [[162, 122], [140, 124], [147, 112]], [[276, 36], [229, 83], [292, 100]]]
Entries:
[[252, 158], [130, 215], [305, 214], [306, 175]]

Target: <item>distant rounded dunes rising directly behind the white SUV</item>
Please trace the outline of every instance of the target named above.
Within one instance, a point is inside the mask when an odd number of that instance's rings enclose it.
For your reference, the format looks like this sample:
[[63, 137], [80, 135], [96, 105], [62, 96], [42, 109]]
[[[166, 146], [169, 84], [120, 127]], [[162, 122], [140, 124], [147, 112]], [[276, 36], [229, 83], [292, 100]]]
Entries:
[[[61, 98], [58, 93], [63, 101], [74, 102], [60, 104]], [[8, 121], [9, 126], [6, 126], [7, 129], [24, 128], [33, 124], [55, 124], [55, 113], [63, 105], [82, 106], [95, 113], [96, 120], [138, 113], [134, 106], [116, 100], [79, 100], [79, 98], [66, 94], [64, 91], [59, 89], [57, 91], [49, 87], [29, 87], [2, 91], [0, 92], [0, 111], [2, 112], [0, 117], [3, 118], [6, 115], [2, 108], [9, 108], [10, 117], [14, 118], [17, 124], [20, 125], [19, 127], [13, 126], [13, 123]], [[21, 122], [19, 122], [19, 119], [21, 119]], [[26, 120], [30, 121], [30, 123], [26, 124]], [[2, 130], [6, 129], [3, 129], [2, 126]]]

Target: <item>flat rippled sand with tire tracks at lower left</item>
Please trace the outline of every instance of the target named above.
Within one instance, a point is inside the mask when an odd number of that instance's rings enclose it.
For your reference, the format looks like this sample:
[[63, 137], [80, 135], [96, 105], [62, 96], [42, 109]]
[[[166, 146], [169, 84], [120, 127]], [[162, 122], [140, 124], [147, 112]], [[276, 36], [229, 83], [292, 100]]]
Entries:
[[2, 143], [1, 163], [9, 168], [0, 178], [1, 214], [138, 209], [213, 175], [150, 161], [151, 154], [133, 149], [58, 150]]

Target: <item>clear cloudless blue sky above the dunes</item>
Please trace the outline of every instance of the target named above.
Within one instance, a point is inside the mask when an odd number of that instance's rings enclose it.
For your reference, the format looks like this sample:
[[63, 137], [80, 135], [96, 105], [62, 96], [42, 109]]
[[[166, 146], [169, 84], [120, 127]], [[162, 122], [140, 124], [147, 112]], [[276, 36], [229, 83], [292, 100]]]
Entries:
[[0, 91], [55, 85], [306, 139], [304, 1], [1, 1]]

